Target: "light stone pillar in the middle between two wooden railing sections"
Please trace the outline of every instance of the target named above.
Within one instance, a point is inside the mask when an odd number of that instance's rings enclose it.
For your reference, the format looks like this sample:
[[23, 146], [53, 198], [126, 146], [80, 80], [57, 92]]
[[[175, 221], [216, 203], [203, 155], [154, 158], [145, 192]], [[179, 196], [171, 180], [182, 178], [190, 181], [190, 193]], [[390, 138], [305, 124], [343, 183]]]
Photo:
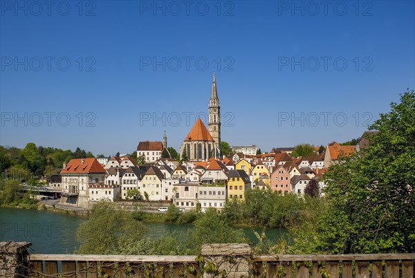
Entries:
[[202, 245], [205, 260], [204, 278], [249, 277], [252, 251], [246, 243], [215, 243]]

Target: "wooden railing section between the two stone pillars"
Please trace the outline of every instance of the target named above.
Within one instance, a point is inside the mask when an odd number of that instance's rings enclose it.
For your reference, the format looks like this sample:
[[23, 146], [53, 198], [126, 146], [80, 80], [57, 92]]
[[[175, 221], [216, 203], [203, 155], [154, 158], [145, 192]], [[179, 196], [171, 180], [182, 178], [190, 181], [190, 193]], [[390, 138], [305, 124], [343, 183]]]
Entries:
[[30, 277], [200, 277], [195, 256], [31, 254]]

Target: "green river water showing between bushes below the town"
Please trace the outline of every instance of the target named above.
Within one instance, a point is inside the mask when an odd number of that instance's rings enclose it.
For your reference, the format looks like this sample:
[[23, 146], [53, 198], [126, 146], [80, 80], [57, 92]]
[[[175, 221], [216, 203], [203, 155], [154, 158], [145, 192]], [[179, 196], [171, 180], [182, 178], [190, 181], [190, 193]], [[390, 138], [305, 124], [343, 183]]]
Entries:
[[[22, 210], [0, 207], [0, 241], [32, 242], [32, 252], [36, 254], [73, 254], [78, 244], [76, 230], [86, 221], [85, 216], [57, 214], [44, 210]], [[165, 232], [186, 232], [192, 224], [170, 224], [158, 222], [144, 223], [148, 237], [160, 237]], [[257, 242], [250, 228], [242, 228], [250, 242]], [[261, 233], [261, 228], [255, 228]], [[284, 237], [286, 230], [267, 229], [268, 239]]]

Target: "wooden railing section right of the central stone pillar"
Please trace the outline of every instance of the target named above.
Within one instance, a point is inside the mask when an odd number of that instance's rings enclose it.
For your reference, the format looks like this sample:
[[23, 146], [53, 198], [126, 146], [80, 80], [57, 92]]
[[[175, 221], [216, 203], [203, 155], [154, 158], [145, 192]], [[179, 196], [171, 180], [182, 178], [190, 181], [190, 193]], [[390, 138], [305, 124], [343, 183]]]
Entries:
[[412, 278], [414, 260], [415, 254], [262, 255], [254, 277]]

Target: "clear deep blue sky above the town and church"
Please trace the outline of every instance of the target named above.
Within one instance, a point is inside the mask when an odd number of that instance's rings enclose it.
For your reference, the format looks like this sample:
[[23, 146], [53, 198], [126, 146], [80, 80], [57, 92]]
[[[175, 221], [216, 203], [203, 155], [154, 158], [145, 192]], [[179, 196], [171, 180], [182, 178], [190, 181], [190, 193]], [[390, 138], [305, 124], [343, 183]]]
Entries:
[[0, 1], [0, 145], [262, 151], [358, 138], [415, 89], [415, 1]]

